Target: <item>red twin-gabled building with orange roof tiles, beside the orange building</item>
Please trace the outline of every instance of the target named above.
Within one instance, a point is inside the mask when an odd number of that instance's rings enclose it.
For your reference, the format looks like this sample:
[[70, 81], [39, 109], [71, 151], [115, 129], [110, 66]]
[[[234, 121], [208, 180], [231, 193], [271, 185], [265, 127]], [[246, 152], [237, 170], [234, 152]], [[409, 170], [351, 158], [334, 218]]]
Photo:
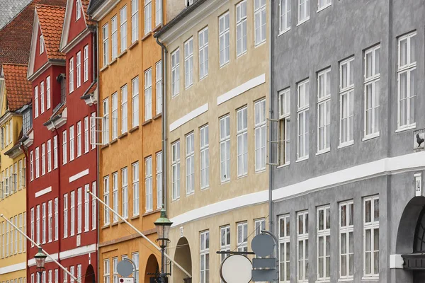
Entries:
[[[66, 8], [35, 8], [28, 79], [33, 86], [33, 129], [28, 149], [27, 233], [81, 282], [96, 282], [95, 28], [89, 1], [68, 0]], [[28, 245], [28, 282], [38, 282], [35, 246]], [[48, 258], [42, 282], [73, 282]], [[96, 280], [96, 281], [95, 281]]]

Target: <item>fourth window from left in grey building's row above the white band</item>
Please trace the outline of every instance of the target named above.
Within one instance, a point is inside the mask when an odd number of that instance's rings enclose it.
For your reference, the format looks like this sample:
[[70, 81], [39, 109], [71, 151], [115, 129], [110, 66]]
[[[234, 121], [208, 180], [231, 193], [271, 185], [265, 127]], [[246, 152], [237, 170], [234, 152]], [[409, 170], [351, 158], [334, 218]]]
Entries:
[[340, 146], [353, 144], [354, 129], [354, 57], [339, 66]]

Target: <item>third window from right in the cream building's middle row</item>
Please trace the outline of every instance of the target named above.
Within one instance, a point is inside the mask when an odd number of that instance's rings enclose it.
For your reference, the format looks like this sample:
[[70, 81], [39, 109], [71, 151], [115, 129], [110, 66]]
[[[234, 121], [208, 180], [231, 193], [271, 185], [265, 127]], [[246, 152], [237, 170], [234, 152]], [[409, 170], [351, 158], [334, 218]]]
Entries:
[[220, 118], [220, 180], [230, 180], [230, 115]]

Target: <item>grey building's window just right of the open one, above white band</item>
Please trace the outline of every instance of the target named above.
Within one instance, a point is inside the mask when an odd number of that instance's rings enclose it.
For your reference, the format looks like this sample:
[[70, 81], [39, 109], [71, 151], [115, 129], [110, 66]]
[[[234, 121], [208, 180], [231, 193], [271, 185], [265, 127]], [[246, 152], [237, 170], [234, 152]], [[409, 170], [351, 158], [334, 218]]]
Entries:
[[310, 81], [307, 79], [297, 84], [297, 118], [298, 118], [298, 159], [308, 158], [309, 149], [309, 95]]

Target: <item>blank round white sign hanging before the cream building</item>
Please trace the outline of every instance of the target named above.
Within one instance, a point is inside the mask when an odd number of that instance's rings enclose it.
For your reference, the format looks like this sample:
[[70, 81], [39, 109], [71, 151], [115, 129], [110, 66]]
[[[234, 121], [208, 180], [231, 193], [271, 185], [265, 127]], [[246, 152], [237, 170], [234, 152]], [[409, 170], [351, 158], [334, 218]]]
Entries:
[[220, 277], [225, 283], [248, 283], [251, 273], [251, 260], [244, 255], [229, 255], [220, 266]]

